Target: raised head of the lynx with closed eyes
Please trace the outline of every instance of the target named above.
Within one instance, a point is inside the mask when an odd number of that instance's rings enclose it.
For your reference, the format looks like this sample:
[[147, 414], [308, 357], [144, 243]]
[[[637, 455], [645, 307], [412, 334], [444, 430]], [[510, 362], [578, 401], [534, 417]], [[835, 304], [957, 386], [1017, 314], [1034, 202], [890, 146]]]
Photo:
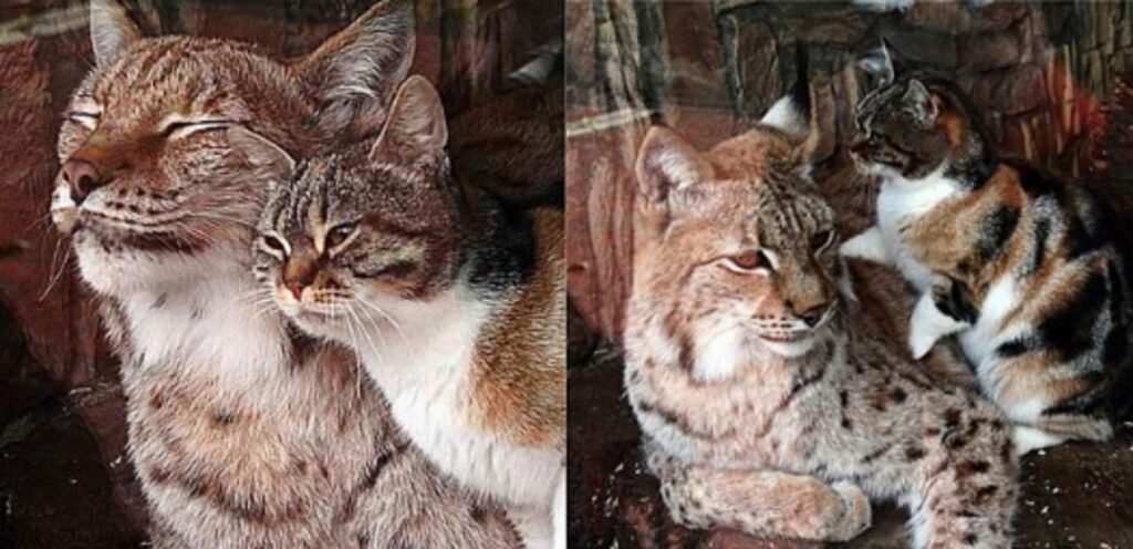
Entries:
[[96, 67], [60, 129], [51, 205], [87, 282], [122, 295], [246, 256], [265, 181], [292, 154], [366, 132], [359, 113], [384, 118], [412, 57], [410, 12], [380, 5], [283, 62], [231, 41], [143, 37], [119, 3], [93, 0]]

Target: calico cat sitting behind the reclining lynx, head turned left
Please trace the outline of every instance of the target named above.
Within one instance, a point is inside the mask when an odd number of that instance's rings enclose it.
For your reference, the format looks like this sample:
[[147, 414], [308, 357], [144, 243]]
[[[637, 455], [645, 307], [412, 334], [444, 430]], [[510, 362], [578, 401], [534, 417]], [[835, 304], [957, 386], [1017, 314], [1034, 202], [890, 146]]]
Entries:
[[1106, 440], [1128, 375], [1119, 233], [1091, 191], [999, 159], [966, 98], [888, 49], [858, 105], [860, 168], [881, 178], [877, 225], [843, 253], [894, 264], [921, 293], [910, 348], [959, 333], [983, 390], [1019, 426], [1019, 451]]

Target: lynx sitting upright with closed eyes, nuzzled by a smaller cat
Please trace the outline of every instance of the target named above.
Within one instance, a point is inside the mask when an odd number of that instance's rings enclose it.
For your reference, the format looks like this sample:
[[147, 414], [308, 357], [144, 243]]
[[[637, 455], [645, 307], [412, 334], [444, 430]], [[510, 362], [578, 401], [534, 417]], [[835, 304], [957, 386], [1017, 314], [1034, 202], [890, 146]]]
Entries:
[[161, 548], [513, 547], [402, 436], [355, 357], [257, 303], [248, 246], [292, 157], [384, 119], [414, 23], [382, 3], [284, 64], [143, 37], [94, 1], [97, 66], [60, 129], [52, 196], [122, 362], [129, 457]]

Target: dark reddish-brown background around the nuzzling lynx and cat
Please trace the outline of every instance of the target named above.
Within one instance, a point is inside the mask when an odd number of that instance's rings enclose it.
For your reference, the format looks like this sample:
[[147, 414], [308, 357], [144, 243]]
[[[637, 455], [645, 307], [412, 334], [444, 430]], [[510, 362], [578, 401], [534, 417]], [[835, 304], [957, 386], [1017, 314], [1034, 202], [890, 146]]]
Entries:
[[[373, 2], [126, 3], [151, 32], [231, 37], [298, 56]], [[561, 84], [520, 96], [504, 90], [510, 73], [560, 42], [562, 5], [420, 0], [417, 19], [414, 71], [438, 85], [455, 117], [458, 170], [462, 160], [475, 164], [471, 183], [488, 187], [518, 180], [561, 189]], [[0, 0], [0, 548], [136, 547], [145, 538], [116, 361], [46, 216], [60, 112], [92, 64], [85, 1]], [[533, 123], [533, 101], [557, 105], [535, 120], [553, 153], [540, 158], [554, 159], [540, 164], [542, 180], [523, 162], [485, 158], [516, 152], [493, 143]], [[520, 172], [502, 172], [509, 169]]]

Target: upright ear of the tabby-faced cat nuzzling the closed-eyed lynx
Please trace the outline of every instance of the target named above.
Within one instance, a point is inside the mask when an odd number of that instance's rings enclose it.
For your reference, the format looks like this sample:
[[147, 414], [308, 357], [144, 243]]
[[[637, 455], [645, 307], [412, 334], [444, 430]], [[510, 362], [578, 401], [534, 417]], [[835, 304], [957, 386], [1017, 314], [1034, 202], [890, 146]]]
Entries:
[[444, 107], [436, 90], [423, 76], [414, 75], [398, 88], [390, 105], [390, 117], [370, 150], [370, 158], [385, 154], [440, 153], [449, 141]]

